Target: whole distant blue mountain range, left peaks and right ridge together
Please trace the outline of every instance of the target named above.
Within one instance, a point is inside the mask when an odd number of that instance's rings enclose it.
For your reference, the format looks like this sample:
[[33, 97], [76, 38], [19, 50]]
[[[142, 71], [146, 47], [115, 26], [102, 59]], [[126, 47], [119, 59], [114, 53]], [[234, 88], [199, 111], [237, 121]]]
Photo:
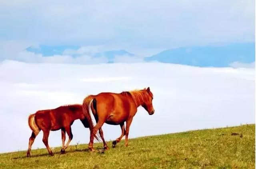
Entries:
[[[158, 54], [144, 58], [144, 61], [158, 61], [162, 63], [183, 64], [200, 67], [228, 67], [232, 63], [252, 63], [255, 62], [255, 43], [233, 43], [222, 46], [194, 46], [182, 47], [170, 50], [164, 50]], [[29, 47], [27, 51], [35, 54], [42, 54], [43, 57], [63, 55], [66, 49], [78, 50], [79, 46], [45, 46], [38, 48]], [[107, 58], [107, 63], [116, 62], [117, 57], [130, 57], [137, 59], [136, 54], [126, 50], [110, 50], [96, 53], [83, 53], [92, 58]], [[83, 54], [70, 54], [73, 58], [80, 57]], [[125, 61], [124, 61], [125, 62]]]

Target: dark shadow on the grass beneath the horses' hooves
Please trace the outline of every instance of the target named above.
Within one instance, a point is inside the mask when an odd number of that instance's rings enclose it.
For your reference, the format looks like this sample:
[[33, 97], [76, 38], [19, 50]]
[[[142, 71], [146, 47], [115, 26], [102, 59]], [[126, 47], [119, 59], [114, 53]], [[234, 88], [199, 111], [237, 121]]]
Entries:
[[[102, 148], [96, 148], [96, 153], [104, 153], [104, 149]], [[75, 150], [71, 150], [71, 151], [66, 151], [64, 154], [72, 154], [72, 153], [77, 153], [77, 152], [87, 152], [87, 153], [90, 153], [90, 150], [87, 148], [87, 149], [75, 149]], [[63, 154], [63, 155], [64, 155]], [[56, 152], [54, 153], [54, 155], [62, 155], [60, 152]], [[27, 157], [26, 155], [24, 156], [20, 156], [20, 157], [14, 157], [12, 159], [26, 159], [26, 158], [34, 158], [34, 157], [46, 157], [46, 156], [49, 156], [49, 157], [52, 157], [49, 153], [44, 153], [44, 154], [38, 154], [38, 155], [31, 155], [30, 157]]]

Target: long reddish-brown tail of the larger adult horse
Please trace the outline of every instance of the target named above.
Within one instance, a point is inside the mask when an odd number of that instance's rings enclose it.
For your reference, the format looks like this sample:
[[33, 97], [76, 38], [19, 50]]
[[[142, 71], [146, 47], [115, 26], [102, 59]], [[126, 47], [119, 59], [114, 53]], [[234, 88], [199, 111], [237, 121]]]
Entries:
[[[83, 113], [89, 123], [89, 129], [91, 132], [92, 132], [94, 125], [93, 125], [92, 117], [90, 115], [90, 109], [91, 109], [92, 101], [94, 101], [94, 100], [95, 100], [94, 97], [92, 95], [89, 95], [83, 101]], [[94, 135], [94, 137], [98, 141], [100, 141], [98, 132], [96, 133], [96, 135]]]

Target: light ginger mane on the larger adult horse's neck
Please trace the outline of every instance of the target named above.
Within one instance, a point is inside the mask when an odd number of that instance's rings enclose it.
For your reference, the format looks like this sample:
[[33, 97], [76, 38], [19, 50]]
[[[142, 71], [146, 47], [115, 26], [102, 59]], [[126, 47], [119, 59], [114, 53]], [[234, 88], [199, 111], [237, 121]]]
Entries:
[[145, 99], [147, 97], [153, 97], [153, 94], [150, 92], [148, 93], [145, 89], [142, 90], [132, 90], [132, 91], [123, 91], [121, 93], [122, 95], [128, 96], [131, 95], [132, 99], [134, 100], [135, 104], [138, 105], [142, 105], [143, 103], [145, 103]]

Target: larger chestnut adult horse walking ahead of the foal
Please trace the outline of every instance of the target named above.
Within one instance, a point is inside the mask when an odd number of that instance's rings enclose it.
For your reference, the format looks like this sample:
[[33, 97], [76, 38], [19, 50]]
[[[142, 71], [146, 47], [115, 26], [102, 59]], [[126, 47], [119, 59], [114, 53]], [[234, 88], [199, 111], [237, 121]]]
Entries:
[[[92, 113], [97, 122], [93, 129], [90, 130], [89, 149], [94, 151], [93, 140], [98, 130], [102, 137], [104, 148], [108, 149], [101, 129], [104, 123], [120, 125], [122, 134], [112, 142], [112, 146], [115, 147], [116, 143], [125, 135], [125, 146], [127, 147], [129, 128], [132, 123], [132, 118], [137, 112], [137, 107], [141, 105], [148, 111], [148, 114], [154, 114], [152, 99], [153, 94], [149, 87], [142, 90], [124, 91], [122, 93], [100, 93], [86, 97], [83, 101], [84, 114], [90, 116], [89, 108], [92, 109]], [[126, 122], [126, 127], [124, 127], [124, 122]]]

